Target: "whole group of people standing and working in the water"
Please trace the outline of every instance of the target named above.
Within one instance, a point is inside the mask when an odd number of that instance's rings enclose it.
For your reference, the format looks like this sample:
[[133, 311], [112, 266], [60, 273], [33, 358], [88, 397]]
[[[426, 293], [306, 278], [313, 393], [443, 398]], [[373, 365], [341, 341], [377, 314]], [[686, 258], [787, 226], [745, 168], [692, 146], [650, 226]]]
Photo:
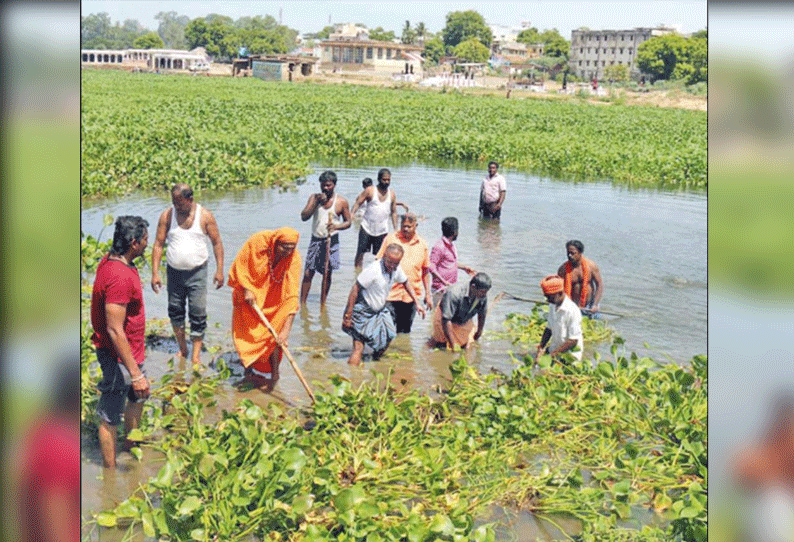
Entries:
[[[322, 276], [320, 303], [325, 304], [332, 274], [341, 265], [339, 232], [349, 229], [354, 221], [360, 221], [354, 258], [356, 279], [341, 318], [342, 330], [353, 342], [350, 365], [362, 363], [365, 347], [372, 350], [373, 359], [379, 359], [398, 333], [411, 332], [417, 313], [423, 318], [431, 315], [431, 347], [466, 349], [482, 336], [492, 282], [486, 273], [458, 262], [457, 218], [442, 220], [442, 236], [431, 248], [416, 232], [420, 218], [397, 201], [388, 169], [378, 171], [377, 184], [364, 179], [352, 208], [336, 193], [336, 184], [333, 171], [323, 172], [319, 176], [320, 191], [309, 196], [300, 213], [302, 221], [311, 219], [305, 266], [296, 251], [300, 234], [285, 226], [253, 234], [229, 269], [226, 282], [233, 290], [234, 345], [247, 377], [263, 390], [271, 390], [279, 379], [279, 365], [295, 315], [307, 302], [315, 273]], [[505, 196], [505, 179], [498, 173], [498, 164], [491, 162], [480, 190], [481, 217], [498, 220]], [[186, 359], [187, 313], [192, 361], [201, 368], [207, 241], [215, 258], [216, 288], [224, 284], [223, 242], [212, 212], [194, 201], [188, 185], [174, 185], [171, 201], [173, 205], [162, 212], [157, 225], [151, 286], [155, 293], [162, 287], [159, 268], [165, 249], [169, 319], [180, 355]], [[397, 207], [403, 207], [404, 212], [398, 215]], [[115, 465], [116, 426], [122, 414], [129, 434], [137, 427], [142, 402], [150, 392], [144, 370], [142, 288], [133, 263], [144, 254], [147, 228], [148, 222], [142, 217], [119, 217], [112, 248], [97, 266], [94, 281], [92, 341], [103, 372], [99, 440], [107, 467]], [[581, 358], [581, 312], [577, 305], [597, 310], [603, 284], [598, 267], [582, 256], [581, 242], [570, 241], [566, 249], [568, 261], [558, 275], [546, 277], [541, 283], [550, 310], [537, 353], [558, 356], [568, 352]], [[363, 266], [368, 253], [375, 259]], [[467, 281], [458, 282], [458, 270], [468, 275]]]

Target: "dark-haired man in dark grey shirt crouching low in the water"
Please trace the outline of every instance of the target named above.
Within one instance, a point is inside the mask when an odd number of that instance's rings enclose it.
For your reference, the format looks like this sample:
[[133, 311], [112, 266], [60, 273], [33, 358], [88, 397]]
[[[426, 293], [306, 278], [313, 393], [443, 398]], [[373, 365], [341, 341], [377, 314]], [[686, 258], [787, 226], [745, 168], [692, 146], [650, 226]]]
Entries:
[[450, 286], [433, 311], [431, 346], [444, 346], [454, 351], [457, 347], [467, 348], [479, 339], [485, 328], [490, 289], [491, 278], [485, 273], [477, 273], [468, 284]]

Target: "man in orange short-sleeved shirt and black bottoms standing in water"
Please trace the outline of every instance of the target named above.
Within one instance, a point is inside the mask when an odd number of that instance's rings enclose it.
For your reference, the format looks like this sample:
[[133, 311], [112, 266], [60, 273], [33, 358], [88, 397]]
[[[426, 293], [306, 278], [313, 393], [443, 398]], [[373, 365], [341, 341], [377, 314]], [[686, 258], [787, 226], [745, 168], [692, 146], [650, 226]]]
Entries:
[[[417, 299], [422, 294], [424, 288], [424, 302], [427, 310], [433, 306], [430, 297], [430, 250], [427, 243], [416, 233], [417, 218], [413, 213], [405, 213], [401, 217], [400, 231], [390, 233], [383, 240], [381, 249], [376, 258], [383, 257], [386, 247], [391, 243], [397, 243], [403, 248], [403, 258], [400, 262], [405, 274], [408, 276], [407, 283], [396, 283], [392, 286], [387, 300], [391, 303], [394, 310], [394, 323], [397, 333], [410, 333], [416, 315], [416, 303], [406, 290], [406, 286], [413, 288]], [[422, 315], [424, 317], [424, 315]]]

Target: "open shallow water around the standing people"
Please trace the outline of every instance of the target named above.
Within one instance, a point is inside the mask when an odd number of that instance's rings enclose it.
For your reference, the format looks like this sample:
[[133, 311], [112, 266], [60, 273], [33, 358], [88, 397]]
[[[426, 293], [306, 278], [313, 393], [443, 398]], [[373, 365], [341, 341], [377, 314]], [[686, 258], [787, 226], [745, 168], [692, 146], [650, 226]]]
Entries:
[[[316, 173], [296, 189], [246, 189], [222, 194], [202, 193], [197, 201], [215, 214], [225, 248], [224, 271], [237, 251], [253, 233], [263, 229], [291, 226], [301, 238], [298, 251], [305, 260], [311, 221], [301, 222], [300, 211], [310, 194], [318, 191], [317, 177], [328, 169], [314, 164]], [[376, 178], [381, 166], [334, 167], [339, 182], [337, 193], [351, 206], [361, 191], [364, 177]], [[616, 333], [626, 341], [626, 351], [686, 363], [695, 354], [706, 353], [706, 246], [707, 205], [704, 194], [672, 193], [648, 189], [616, 187], [610, 183], [572, 183], [537, 176], [502, 171], [507, 178], [507, 197], [500, 221], [483, 221], [477, 216], [479, 187], [485, 168], [433, 167], [408, 165], [390, 168], [392, 188], [398, 201], [410, 206], [420, 216], [417, 233], [428, 246], [441, 236], [441, 220], [455, 216], [460, 223], [456, 246], [460, 263], [488, 273], [493, 282], [491, 305], [485, 333], [470, 356], [480, 371], [495, 368], [510, 371], [510, 352], [517, 357], [525, 351], [496, 337], [503, 321], [512, 312], [529, 312], [531, 303], [503, 297], [500, 292], [529, 299], [543, 299], [539, 287], [546, 275], [556, 273], [565, 261], [565, 242], [579, 239], [585, 255], [601, 269], [605, 293], [601, 309], [622, 315], [609, 318]], [[85, 202], [82, 230], [97, 236], [103, 217], [124, 214], [140, 215], [149, 221], [149, 239], [153, 242], [157, 220], [170, 205], [168, 193], [132, 195], [121, 199]], [[102, 239], [112, 236], [112, 226], [105, 228]], [[392, 369], [395, 381], [407, 380], [409, 386], [432, 389], [449, 377], [448, 363], [453, 354], [429, 351], [425, 341], [430, 322], [417, 316], [410, 335], [400, 335], [387, 355], [378, 362], [366, 362], [363, 368], [350, 368], [346, 354], [351, 340], [341, 330], [341, 315], [355, 278], [353, 258], [357, 228], [340, 233], [342, 267], [334, 272], [327, 308], [319, 308], [319, 275], [315, 275], [305, 309], [295, 320], [290, 336], [290, 350], [310, 383], [320, 386], [338, 373], [354, 382], [372, 378], [370, 370]], [[212, 256], [210, 256], [212, 260]], [[365, 257], [366, 265], [372, 256]], [[214, 261], [210, 262], [210, 278]], [[161, 271], [164, 274], [164, 270]], [[147, 320], [161, 319], [168, 332], [167, 294], [155, 294], [149, 286], [148, 267], [141, 270]], [[466, 280], [461, 273], [459, 280]], [[211, 288], [207, 299], [208, 329], [205, 342], [233, 351], [230, 334], [231, 289]], [[595, 349], [608, 353], [609, 345]], [[171, 354], [147, 352], [147, 368], [155, 379], [167, 370]], [[212, 354], [203, 355], [204, 362]], [[273, 396], [289, 404], [307, 404], [308, 398], [284, 361], [281, 380]], [[233, 404], [242, 397], [265, 402], [272, 397], [257, 390], [240, 392], [229, 386], [222, 401]], [[93, 448], [92, 448], [93, 447]], [[89, 448], [86, 450], [86, 448]], [[141, 476], [156, 474], [159, 465], [147, 468], [128, 461], [121, 454], [121, 466], [110, 479], [102, 478], [95, 445], [83, 451], [83, 510], [112, 505], [123, 500]], [[544, 537], [540, 532], [537, 536]]]

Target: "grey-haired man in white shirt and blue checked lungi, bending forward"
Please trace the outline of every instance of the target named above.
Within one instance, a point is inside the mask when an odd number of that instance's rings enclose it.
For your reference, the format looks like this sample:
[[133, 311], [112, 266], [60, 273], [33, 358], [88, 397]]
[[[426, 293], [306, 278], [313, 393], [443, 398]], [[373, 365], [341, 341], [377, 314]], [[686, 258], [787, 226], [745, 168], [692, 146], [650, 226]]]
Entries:
[[397, 336], [393, 309], [386, 303], [393, 284], [405, 284], [416, 310], [425, 315], [413, 288], [408, 288], [408, 276], [400, 267], [402, 257], [403, 248], [397, 243], [389, 244], [383, 257], [365, 267], [350, 289], [342, 319], [342, 331], [353, 338], [353, 351], [347, 360], [350, 365], [361, 365], [365, 344], [372, 348], [373, 359], [378, 359]]

